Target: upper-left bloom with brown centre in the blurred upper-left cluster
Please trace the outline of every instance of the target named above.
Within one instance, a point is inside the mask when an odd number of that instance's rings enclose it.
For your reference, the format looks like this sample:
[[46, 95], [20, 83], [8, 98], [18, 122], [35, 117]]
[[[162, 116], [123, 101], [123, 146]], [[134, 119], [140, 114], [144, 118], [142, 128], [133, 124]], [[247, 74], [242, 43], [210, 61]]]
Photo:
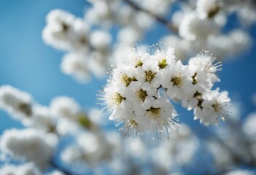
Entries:
[[47, 44], [61, 50], [88, 52], [90, 26], [69, 12], [54, 9], [47, 15], [47, 26], [42, 38]]

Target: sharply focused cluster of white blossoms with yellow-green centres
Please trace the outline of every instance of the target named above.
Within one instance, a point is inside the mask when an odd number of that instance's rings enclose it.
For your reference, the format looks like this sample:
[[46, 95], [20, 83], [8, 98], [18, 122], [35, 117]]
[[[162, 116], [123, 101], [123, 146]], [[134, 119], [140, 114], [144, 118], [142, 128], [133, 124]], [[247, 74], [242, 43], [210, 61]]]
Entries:
[[160, 133], [177, 130], [177, 112], [171, 100], [193, 109], [195, 118], [204, 125], [218, 123], [228, 114], [227, 92], [212, 90], [219, 79], [215, 74], [220, 62], [203, 51], [190, 58], [188, 65], [176, 61], [174, 48], [153, 46], [152, 55], [131, 50], [112, 70], [112, 77], [99, 98], [106, 105], [110, 120], [115, 120], [128, 135], [144, 131]]

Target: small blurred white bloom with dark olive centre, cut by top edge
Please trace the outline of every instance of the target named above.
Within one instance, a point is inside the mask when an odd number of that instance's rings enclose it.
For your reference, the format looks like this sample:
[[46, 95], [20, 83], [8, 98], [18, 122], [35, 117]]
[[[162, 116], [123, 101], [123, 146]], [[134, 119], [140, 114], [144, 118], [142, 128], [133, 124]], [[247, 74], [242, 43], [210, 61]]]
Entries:
[[219, 11], [217, 0], [198, 0], [196, 2], [196, 11], [201, 19], [212, 18]]

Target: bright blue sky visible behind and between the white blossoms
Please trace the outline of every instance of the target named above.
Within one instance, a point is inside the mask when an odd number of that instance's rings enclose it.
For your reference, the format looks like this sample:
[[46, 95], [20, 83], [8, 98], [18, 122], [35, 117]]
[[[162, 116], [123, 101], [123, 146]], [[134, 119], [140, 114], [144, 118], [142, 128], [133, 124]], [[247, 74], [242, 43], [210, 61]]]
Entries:
[[[51, 9], [66, 9], [82, 17], [86, 5], [85, 0], [0, 0], [0, 85], [12, 85], [31, 93], [43, 105], [48, 105], [55, 96], [71, 96], [82, 106], [96, 106], [96, 93], [106, 79], [93, 79], [87, 85], [80, 85], [62, 74], [59, 67], [63, 52], [47, 46], [41, 38], [45, 17]], [[157, 30], [153, 28], [146, 34], [145, 42], [154, 44], [166, 32], [164, 26], [158, 25]], [[255, 26], [249, 32], [255, 42]], [[222, 82], [217, 84], [228, 90], [234, 101], [243, 103], [243, 114], [255, 111], [251, 100], [256, 92], [255, 50], [253, 44], [245, 54], [224, 62], [219, 74]], [[198, 122], [192, 123], [192, 112], [181, 108], [178, 111], [182, 122], [199, 126]], [[12, 127], [21, 125], [0, 111], [0, 133]]]

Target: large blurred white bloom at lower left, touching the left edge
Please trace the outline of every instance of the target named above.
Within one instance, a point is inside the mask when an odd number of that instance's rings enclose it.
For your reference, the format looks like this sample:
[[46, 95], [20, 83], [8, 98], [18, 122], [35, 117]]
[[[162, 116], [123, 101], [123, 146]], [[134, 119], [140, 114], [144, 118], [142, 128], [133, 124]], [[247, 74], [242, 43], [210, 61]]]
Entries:
[[44, 133], [32, 128], [11, 129], [1, 136], [1, 151], [13, 158], [31, 161], [39, 168], [46, 168], [53, 154]]

